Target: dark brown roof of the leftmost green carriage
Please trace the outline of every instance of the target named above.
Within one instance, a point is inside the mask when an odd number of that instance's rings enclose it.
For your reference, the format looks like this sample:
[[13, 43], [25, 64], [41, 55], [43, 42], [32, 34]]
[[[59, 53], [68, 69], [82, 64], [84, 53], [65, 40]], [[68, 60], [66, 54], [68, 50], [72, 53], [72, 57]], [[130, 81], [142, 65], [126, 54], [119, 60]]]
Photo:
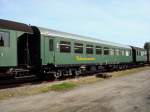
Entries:
[[0, 19], [0, 28], [33, 33], [32, 28], [26, 24], [3, 19]]

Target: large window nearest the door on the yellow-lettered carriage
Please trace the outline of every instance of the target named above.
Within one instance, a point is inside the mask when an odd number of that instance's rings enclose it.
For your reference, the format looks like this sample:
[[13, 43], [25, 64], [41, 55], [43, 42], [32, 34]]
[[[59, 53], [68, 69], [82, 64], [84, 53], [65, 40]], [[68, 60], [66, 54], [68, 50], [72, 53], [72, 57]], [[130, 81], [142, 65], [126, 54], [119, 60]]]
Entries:
[[60, 41], [60, 52], [70, 53], [71, 52], [71, 43], [67, 41]]

